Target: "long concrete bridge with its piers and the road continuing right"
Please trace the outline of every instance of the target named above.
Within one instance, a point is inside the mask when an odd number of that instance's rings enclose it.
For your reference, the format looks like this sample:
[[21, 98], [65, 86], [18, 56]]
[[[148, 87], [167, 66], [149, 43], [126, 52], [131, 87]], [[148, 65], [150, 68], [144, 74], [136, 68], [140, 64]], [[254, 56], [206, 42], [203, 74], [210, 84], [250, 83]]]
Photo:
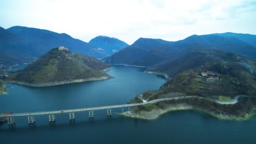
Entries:
[[[235, 104], [238, 101], [238, 98], [240, 96], [235, 96], [234, 99], [229, 101], [219, 101], [219, 100], [213, 100], [216, 103], [219, 104]], [[251, 97], [251, 96], [244, 96], [244, 97]], [[153, 104], [160, 101], [169, 101], [169, 100], [175, 100], [175, 99], [189, 99], [189, 98], [198, 98], [198, 99], [206, 99], [204, 97], [200, 96], [179, 96], [179, 97], [171, 97], [171, 98], [164, 98], [164, 99], [155, 99], [152, 101], [142, 102], [142, 103], [133, 103], [133, 104], [119, 104], [119, 105], [110, 105], [110, 106], [101, 106], [101, 107], [89, 107], [89, 108], [81, 108], [81, 109], [65, 109], [65, 110], [55, 110], [55, 111], [45, 111], [45, 112], [26, 112], [26, 113], [13, 113], [13, 114], [0, 114], [0, 118], [5, 117], [8, 120], [8, 125], [12, 125], [15, 123], [14, 117], [28, 117], [28, 123], [34, 123], [35, 122], [35, 116], [37, 115], [48, 115], [49, 121], [55, 121], [55, 115], [56, 114], [69, 114], [69, 120], [75, 119], [75, 113], [76, 112], [88, 112], [89, 118], [93, 117], [93, 111], [96, 110], [107, 110], [107, 116], [112, 115], [111, 109], [115, 108], [122, 108], [122, 113], [124, 112], [124, 107], [128, 107], [128, 110], [130, 110], [130, 107], [134, 106], [140, 106], [145, 104]]]

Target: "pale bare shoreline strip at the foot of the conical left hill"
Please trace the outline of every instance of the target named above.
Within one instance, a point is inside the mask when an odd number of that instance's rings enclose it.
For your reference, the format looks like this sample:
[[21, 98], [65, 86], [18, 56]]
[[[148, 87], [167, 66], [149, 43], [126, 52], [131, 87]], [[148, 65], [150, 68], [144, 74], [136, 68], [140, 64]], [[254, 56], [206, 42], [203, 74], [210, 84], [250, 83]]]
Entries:
[[100, 77], [90, 77], [85, 79], [77, 79], [77, 80], [64, 80], [59, 82], [49, 82], [49, 83], [25, 83], [20, 81], [7, 81], [4, 83], [16, 83], [19, 85], [27, 85], [32, 87], [46, 87], [46, 86], [54, 86], [54, 85], [64, 85], [69, 83], [81, 83], [81, 82], [87, 82], [87, 81], [95, 81], [95, 80], [106, 80], [109, 78], [114, 78], [112, 76], [106, 75], [106, 76], [100, 76]]

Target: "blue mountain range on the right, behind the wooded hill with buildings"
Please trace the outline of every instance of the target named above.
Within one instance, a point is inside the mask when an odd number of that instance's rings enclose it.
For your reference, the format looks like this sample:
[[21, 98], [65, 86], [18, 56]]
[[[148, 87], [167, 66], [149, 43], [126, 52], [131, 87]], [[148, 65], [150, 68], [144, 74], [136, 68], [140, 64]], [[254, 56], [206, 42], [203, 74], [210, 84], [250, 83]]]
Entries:
[[[245, 35], [248, 37], [248, 34]], [[200, 56], [194, 56], [192, 52], [221, 50], [256, 60], [256, 45], [249, 43], [253, 42], [256, 35], [249, 36], [250, 41], [246, 41], [243, 34], [235, 33], [192, 35], [176, 42], [139, 38], [132, 45], [103, 60], [109, 64], [149, 67], [149, 71], [160, 71], [172, 76], [182, 72], [185, 67], [202, 65]]]

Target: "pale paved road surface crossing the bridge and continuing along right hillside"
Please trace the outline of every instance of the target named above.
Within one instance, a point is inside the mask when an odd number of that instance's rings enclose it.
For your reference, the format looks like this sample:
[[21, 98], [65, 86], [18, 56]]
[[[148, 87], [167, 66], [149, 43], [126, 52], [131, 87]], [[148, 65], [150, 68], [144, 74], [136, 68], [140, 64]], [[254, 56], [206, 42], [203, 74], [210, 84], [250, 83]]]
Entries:
[[[235, 96], [234, 99], [229, 101], [219, 101], [213, 100], [219, 104], [235, 104], [238, 101], [240, 96]], [[189, 98], [199, 98], [199, 99], [206, 99], [200, 96], [179, 96], [179, 97], [171, 97], [171, 98], [164, 98], [164, 99], [155, 99], [153, 101], [147, 101], [144, 103], [134, 103], [134, 104], [119, 104], [119, 105], [111, 105], [111, 106], [101, 106], [101, 107], [89, 107], [89, 108], [81, 108], [81, 109], [65, 109], [65, 110], [55, 110], [55, 111], [46, 111], [46, 112], [26, 112], [26, 113], [13, 113], [9, 115], [0, 114], [0, 117], [25, 117], [25, 116], [35, 116], [35, 115], [55, 115], [55, 114], [63, 114], [63, 113], [73, 113], [73, 112], [88, 112], [88, 111], [95, 111], [95, 110], [102, 110], [102, 109], [114, 109], [114, 108], [122, 108], [122, 107], [134, 107], [139, 105], [145, 104], [153, 104], [160, 101], [169, 101], [174, 99], [189, 99]], [[252, 97], [252, 96], [243, 96], [243, 97]], [[63, 112], [61, 112], [63, 111]]]

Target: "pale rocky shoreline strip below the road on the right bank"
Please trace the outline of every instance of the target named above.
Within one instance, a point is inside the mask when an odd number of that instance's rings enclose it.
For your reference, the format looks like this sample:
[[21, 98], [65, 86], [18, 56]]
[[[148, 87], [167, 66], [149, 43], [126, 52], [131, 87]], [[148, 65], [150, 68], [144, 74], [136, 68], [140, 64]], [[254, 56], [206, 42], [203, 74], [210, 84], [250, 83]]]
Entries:
[[[178, 110], [196, 110], [196, 111], [204, 112], [213, 117], [216, 117], [219, 120], [248, 120], [254, 115], [254, 112], [247, 113], [246, 115], [244, 115], [244, 117], [236, 116], [236, 115], [227, 115], [227, 114], [215, 114], [214, 112], [209, 112], [209, 111], [205, 111], [204, 109], [195, 108], [192, 105], [188, 105], [188, 104], [174, 104], [174, 105], [169, 105], [164, 109], [158, 108], [151, 111], [139, 111], [137, 113], [131, 110], [128, 112], [124, 112], [122, 115], [126, 117], [133, 117], [133, 118], [144, 119], [144, 120], [155, 120], [157, 117], [160, 117], [160, 115], [163, 115], [167, 112], [178, 111]], [[254, 109], [254, 111], [255, 110], [256, 109]]]

